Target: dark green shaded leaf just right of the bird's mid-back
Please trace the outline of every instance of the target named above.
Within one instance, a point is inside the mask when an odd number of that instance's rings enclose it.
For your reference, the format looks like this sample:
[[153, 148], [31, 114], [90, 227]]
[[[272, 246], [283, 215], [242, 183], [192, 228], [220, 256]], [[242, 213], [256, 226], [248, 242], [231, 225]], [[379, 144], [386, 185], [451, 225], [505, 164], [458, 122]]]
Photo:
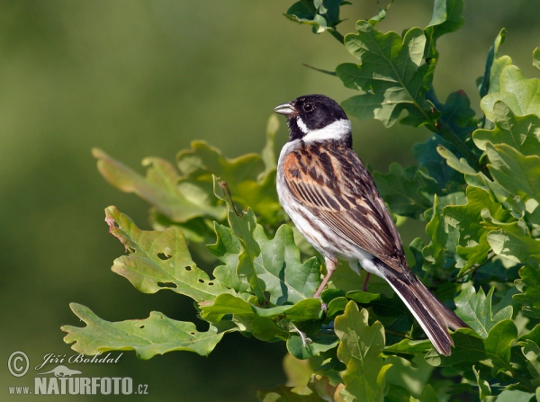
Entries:
[[390, 172], [374, 172], [375, 183], [393, 213], [419, 218], [433, 203], [433, 194], [439, 191], [437, 182], [416, 166], [403, 169], [392, 163]]

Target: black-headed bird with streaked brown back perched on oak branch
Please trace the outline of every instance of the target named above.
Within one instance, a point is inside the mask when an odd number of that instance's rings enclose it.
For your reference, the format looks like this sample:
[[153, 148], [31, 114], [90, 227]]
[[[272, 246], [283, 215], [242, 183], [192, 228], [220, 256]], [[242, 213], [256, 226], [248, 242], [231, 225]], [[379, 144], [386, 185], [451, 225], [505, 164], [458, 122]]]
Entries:
[[358, 274], [359, 263], [390, 284], [437, 352], [449, 356], [454, 341], [448, 328], [469, 326], [410, 270], [392, 215], [352, 148], [347, 114], [322, 94], [300, 96], [274, 111], [286, 116], [289, 128], [277, 163], [279, 201], [327, 269], [313, 297], [320, 298], [338, 258]]

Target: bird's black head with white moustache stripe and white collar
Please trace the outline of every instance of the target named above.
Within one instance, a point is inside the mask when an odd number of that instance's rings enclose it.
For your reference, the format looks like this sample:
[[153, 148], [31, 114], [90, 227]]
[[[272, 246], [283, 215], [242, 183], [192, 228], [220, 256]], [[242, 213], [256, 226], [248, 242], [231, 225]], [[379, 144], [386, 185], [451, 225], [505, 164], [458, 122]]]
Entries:
[[301, 96], [290, 103], [280, 104], [274, 111], [287, 116], [291, 141], [294, 139], [351, 141], [347, 114], [328, 96], [319, 94]]

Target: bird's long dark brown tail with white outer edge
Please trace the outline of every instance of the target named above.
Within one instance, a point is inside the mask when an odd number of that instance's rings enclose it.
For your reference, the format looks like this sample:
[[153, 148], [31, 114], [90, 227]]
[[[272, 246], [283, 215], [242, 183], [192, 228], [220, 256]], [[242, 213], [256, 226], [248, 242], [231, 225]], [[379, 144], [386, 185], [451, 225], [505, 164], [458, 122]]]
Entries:
[[437, 300], [410, 270], [401, 272], [399, 277], [391, 272], [385, 273], [385, 279], [410, 309], [437, 352], [449, 356], [454, 341], [448, 334], [448, 328], [456, 330], [469, 326]]

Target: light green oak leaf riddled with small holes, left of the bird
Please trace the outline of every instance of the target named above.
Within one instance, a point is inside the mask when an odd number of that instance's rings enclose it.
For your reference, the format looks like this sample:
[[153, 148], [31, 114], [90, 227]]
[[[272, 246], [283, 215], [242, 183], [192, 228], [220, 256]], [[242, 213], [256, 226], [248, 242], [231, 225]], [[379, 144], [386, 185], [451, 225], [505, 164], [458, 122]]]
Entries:
[[129, 252], [114, 260], [112, 271], [127, 278], [138, 290], [155, 293], [168, 289], [195, 301], [215, 299], [226, 290], [193, 263], [181, 229], [140, 230], [115, 207], [107, 208], [105, 215], [111, 234]]

